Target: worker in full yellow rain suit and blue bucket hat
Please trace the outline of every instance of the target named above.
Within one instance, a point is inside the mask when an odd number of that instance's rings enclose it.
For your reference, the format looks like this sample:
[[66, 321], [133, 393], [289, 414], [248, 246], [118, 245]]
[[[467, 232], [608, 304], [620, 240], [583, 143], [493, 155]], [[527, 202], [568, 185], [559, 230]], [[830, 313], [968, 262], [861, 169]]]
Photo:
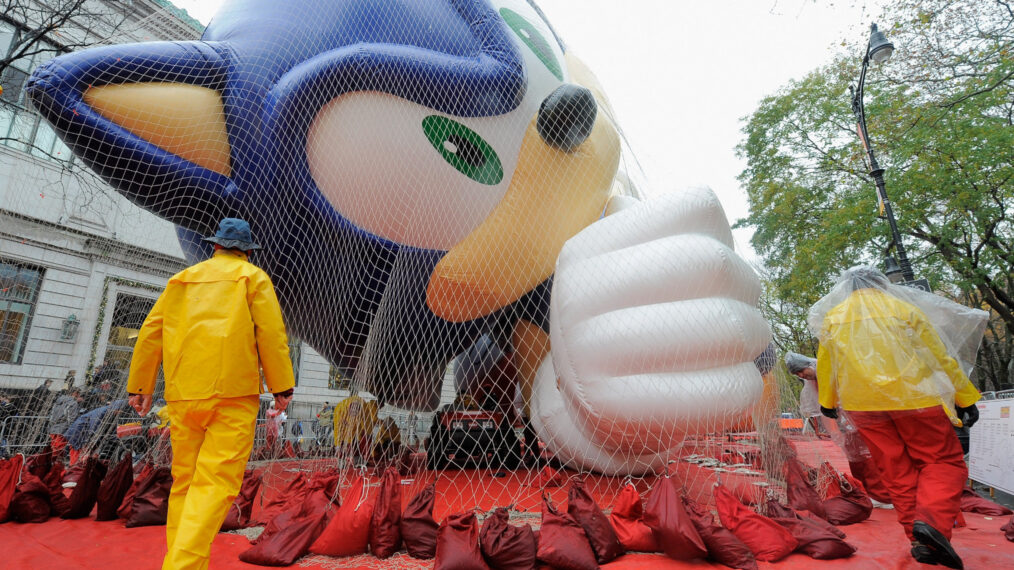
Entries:
[[295, 383], [275, 288], [247, 261], [260, 247], [249, 224], [225, 218], [205, 240], [214, 256], [169, 279], [138, 334], [127, 382], [143, 416], [163, 365], [172, 441], [163, 569], [208, 567], [254, 446], [261, 370], [277, 409]]

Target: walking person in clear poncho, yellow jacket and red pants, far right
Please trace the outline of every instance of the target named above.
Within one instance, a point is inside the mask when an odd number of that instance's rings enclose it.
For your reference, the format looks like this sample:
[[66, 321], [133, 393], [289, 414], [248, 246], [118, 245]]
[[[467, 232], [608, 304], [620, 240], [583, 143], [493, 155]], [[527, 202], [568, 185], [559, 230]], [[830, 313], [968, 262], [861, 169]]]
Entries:
[[951, 426], [979, 419], [967, 374], [987, 317], [869, 267], [810, 308], [820, 411], [849, 412], [920, 562], [961, 567], [949, 540], [968, 470]]

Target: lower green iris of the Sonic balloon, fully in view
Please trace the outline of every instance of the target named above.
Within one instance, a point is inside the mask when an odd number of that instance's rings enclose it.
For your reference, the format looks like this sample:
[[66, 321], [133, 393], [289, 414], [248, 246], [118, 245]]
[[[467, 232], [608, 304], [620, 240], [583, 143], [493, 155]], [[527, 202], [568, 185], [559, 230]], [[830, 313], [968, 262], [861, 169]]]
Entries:
[[440, 156], [462, 174], [487, 186], [503, 180], [504, 169], [497, 151], [479, 133], [439, 115], [423, 119], [423, 132]]

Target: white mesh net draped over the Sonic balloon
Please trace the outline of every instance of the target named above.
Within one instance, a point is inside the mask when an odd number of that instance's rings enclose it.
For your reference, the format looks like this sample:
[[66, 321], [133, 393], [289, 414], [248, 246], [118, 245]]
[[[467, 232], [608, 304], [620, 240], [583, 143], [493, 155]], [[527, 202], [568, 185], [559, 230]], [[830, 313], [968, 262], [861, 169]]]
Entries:
[[[58, 382], [6, 420], [8, 451], [71, 431], [83, 452], [169, 460], [157, 416], [117, 434], [137, 421], [121, 402], [131, 331], [235, 216], [304, 358], [287, 417], [259, 416], [266, 495], [296, 473], [394, 466], [408, 497], [437, 481], [439, 520], [537, 512], [542, 490], [587, 474], [603, 507], [666, 472], [704, 500], [716, 479], [781, 478], [759, 283], [721, 205], [706, 189], [637, 200], [606, 94], [534, 4], [235, 0], [200, 41], [65, 55], [26, 92], [68, 168], [108, 187], [65, 173], [46, 183], [65, 212], [32, 214], [23, 192], [5, 228], [76, 217], [122, 233], [74, 222], [120, 261], [64, 293], [74, 344], [25, 356], [89, 354], [78, 407], [93, 416], [53, 427]], [[4, 286], [59, 294], [28, 283], [59, 274], [28, 255], [4, 253]], [[116, 291], [141, 301], [121, 309]]]

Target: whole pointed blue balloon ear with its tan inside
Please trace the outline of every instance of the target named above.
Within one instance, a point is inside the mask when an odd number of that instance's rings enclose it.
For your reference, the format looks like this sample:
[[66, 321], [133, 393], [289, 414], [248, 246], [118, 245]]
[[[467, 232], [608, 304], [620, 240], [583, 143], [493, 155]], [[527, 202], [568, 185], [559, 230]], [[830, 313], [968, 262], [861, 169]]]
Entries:
[[67, 54], [25, 85], [82, 162], [135, 204], [205, 232], [239, 212], [223, 97], [229, 51], [151, 42]]

